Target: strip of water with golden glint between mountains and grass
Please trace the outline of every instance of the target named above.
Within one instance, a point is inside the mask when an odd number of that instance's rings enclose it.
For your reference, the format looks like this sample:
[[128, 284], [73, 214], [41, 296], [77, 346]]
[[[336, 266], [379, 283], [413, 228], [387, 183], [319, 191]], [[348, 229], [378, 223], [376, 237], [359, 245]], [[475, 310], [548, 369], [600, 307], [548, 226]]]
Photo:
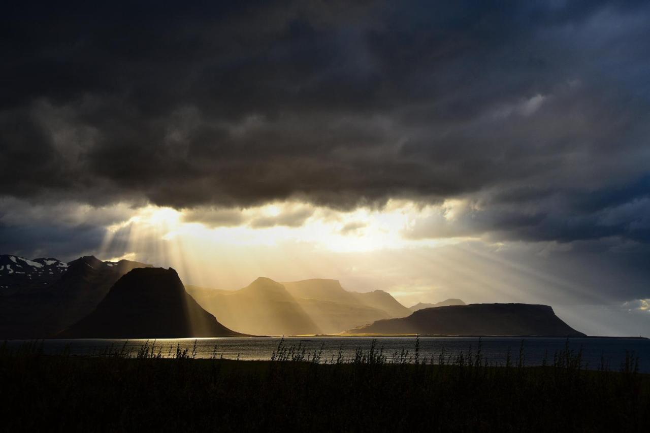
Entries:
[[[369, 350], [372, 339], [376, 338], [376, 348], [383, 348], [383, 354], [389, 359], [402, 349], [408, 350], [413, 356], [415, 337], [285, 337], [287, 347], [299, 344], [310, 354], [318, 352], [322, 347], [321, 361], [336, 360], [339, 350], [344, 358], [354, 358], [357, 348]], [[98, 356], [105, 350], [124, 350], [130, 356], [136, 356], [138, 350], [148, 341], [153, 345], [153, 353], [161, 356], [174, 356], [177, 346], [180, 350], [188, 348], [192, 354], [196, 341], [196, 358], [227, 358], [239, 360], [269, 360], [274, 350], [278, 348], [277, 337], [251, 338], [200, 338], [200, 339], [51, 339], [43, 342], [45, 353], [55, 354], [68, 350], [70, 354], [79, 356]], [[506, 362], [508, 351], [514, 363], [519, 359], [519, 348], [523, 341], [525, 365], [541, 365], [546, 357], [552, 363], [554, 353], [564, 349], [567, 342], [564, 338], [524, 338], [521, 337], [483, 337], [481, 353], [489, 363], [503, 364]], [[420, 337], [420, 358], [428, 358], [437, 362], [441, 353], [452, 359], [460, 352], [467, 353], [471, 347], [476, 354], [478, 337]], [[17, 348], [24, 342], [8, 341], [8, 347]], [[650, 373], [650, 340], [647, 339], [614, 339], [614, 338], [571, 338], [569, 348], [582, 348], [582, 359], [588, 363], [588, 368], [597, 369], [601, 360], [605, 360], [611, 369], [618, 369], [625, 360], [626, 350], [634, 352], [640, 358], [640, 371]]]

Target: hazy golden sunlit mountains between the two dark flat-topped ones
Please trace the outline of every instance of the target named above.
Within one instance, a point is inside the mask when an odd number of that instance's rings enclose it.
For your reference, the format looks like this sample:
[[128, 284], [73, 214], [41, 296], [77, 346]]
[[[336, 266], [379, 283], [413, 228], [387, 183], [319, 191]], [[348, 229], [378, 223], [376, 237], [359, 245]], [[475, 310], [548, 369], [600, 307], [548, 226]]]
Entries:
[[258, 278], [243, 289], [188, 286], [203, 308], [229, 328], [257, 335], [337, 334], [410, 311], [383, 291], [348, 292], [337, 280], [278, 283]]

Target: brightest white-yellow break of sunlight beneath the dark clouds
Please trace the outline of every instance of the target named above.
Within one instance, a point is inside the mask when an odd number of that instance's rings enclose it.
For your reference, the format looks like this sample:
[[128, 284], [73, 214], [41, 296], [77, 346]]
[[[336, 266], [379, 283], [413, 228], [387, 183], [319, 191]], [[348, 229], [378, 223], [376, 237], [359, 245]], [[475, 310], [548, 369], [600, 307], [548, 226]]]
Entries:
[[[352, 212], [334, 212], [309, 207], [309, 217], [299, 226], [282, 224], [281, 217], [291, 212], [294, 206], [275, 203], [255, 209], [244, 209], [241, 212], [249, 218], [248, 224], [244, 219], [242, 224], [237, 226], [217, 227], [210, 227], [201, 222], [185, 222], [183, 211], [168, 207], [143, 207], [129, 220], [109, 227], [105, 246], [112, 241], [112, 236], [125, 229], [129, 231], [129, 245], [137, 243], [138, 238], [147, 233], [155, 233], [163, 241], [182, 238], [184, 243], [190, 243], [194, 248], [201, 248], [201, 245], [210, 243], [278, 246], [292, 242], [312, 243], [317, 248], [333, 252], [368, 252], [413, 244], [437, 246], [463, 240], [404, 239], [403, 231], [409, 228], [414, 220], [426, 216], [431, 211], [426, 208], [418, 209], [410, 203], [389, 203], [382, 211], [357, 209]], [[278, 222], [258, 228], [250, 224], [250, 221], [254, 222], [258, 217], [278, 218]]]

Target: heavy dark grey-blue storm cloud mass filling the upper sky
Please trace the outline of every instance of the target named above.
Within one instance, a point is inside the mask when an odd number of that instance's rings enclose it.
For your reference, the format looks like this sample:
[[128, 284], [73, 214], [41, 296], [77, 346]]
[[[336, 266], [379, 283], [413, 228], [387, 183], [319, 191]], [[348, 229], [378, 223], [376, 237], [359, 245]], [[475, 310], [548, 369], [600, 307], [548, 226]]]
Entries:
[[448, 235], [647, 242], [647, 18], [629, 1], [17, 3], [0, 194], [460, 197], [482, 206]]

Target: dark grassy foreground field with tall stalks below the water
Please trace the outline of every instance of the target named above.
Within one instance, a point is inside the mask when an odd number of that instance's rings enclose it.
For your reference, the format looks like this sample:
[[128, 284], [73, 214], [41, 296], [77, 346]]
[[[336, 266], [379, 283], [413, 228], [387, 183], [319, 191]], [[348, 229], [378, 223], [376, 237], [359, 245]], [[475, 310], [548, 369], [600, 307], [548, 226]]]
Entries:
[[[143, 347], [80, 358], [0, 348], [4, 431], [646, 432], [650, 375], [634, 358], [586, 371], [580, 354], [500, 367], [480, 351], [352, 360], [280, 348], [274, 361], [172, 359]], [[517, 357], [515, 357], [517, 358]], [[519, 358], [521, 359], [521, 358]], [[417, 361], [417, 364], [415, 362]], [[443, 365], [440, 365], [440, 364]]]

